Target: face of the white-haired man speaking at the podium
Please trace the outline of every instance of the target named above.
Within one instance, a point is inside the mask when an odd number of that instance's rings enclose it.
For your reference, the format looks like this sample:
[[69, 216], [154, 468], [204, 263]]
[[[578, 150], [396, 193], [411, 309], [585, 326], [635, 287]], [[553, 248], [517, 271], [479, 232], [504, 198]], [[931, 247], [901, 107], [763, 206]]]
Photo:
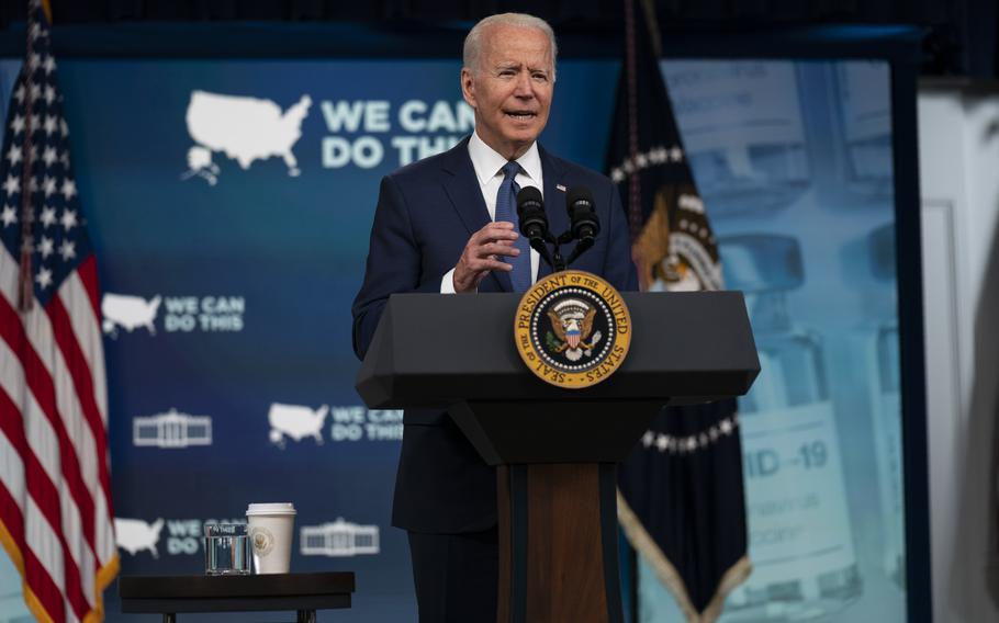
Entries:
[[495, 25], [482, 33], [479, 67], [461, 70], [479, 136], [509, 160], [527, 151], [548, 123], [553, 69], [543, 32]]

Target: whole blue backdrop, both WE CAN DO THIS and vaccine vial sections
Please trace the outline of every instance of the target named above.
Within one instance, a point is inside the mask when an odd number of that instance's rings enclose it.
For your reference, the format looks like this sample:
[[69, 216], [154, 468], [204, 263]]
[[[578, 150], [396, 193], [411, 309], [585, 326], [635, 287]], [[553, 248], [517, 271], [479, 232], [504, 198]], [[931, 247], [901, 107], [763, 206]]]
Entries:
[[[0, 65], [0, 106], [16, 67]], [[663, 67], [763, 351], [741, 406], [757, 575], [727, 616], [902, 621], [887, 66]], [[355, 570], [351, 620], [415, 620], [405, 537], [389, 526], [401, 416], [352, 388], [349, 308], [380, 178], [471, 129], [459, 64], [59, 69], [105, 292], [123, 573], [199, 573], [203, 522], [291, 501], [294, 570]], [[611, 61], [560, 64], [548, 148], [603, 168], [616, 77]], [[642, 620], [680, 621], [640, 578]], [[788, 582], [792, 605], [775, 592]]]

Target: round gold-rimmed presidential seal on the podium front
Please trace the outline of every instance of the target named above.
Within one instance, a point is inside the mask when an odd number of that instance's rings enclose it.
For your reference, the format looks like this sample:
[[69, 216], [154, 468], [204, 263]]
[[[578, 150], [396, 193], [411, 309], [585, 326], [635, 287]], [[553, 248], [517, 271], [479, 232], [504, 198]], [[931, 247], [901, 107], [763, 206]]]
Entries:
[[536, 376], [566, 389], [609, 377], [631, 344], [631, 316], [613, 285], [595, 274], [562, 271], [528, 290], [514, 339]]

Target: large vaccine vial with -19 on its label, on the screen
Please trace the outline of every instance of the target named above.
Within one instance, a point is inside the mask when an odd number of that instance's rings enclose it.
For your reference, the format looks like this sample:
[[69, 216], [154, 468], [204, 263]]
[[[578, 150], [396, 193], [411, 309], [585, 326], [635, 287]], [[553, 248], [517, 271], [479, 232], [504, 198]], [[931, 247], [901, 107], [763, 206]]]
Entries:
[[721, 621], [823, 619], [862, 592], [821, 341], [788, 314], [798, 241], [720, 241], [726, 285], [745, 294], [761, 373], [739, 401], [750, 558]]

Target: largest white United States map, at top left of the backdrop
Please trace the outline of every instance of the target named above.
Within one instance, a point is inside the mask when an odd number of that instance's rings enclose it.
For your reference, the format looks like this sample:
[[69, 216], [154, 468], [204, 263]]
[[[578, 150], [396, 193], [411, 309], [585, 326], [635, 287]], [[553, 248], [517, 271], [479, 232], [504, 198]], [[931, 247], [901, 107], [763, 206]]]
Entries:
[[292, 147], [302, 137], [302, 121], [308, 115], [312, 98], [302, 95], [287, 111], [271, 100], [193, 91], [188, 104], [188, 134], [195, 145], [188, 150], [188, 179], [201, 177], [210, 184], [218, 180], [212, 154], [221, 151], [249, 169], [256, 160], [279, 156], [289, 175], [300, 173]]

